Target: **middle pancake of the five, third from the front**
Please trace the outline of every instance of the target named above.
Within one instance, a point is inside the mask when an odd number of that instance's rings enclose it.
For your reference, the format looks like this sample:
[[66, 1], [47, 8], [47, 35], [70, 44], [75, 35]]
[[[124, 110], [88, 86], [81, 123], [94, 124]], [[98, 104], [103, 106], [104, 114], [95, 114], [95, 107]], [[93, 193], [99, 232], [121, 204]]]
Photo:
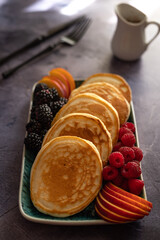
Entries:
[[115, 108], [103, 98], [93, 93], [78, 94], [69, 99], [52, 121], [52, 125], [69, 113], [89, 113], [98, 117], [111, 134], [112, 145], [115, 145], [119, 134], [119, 117]]

